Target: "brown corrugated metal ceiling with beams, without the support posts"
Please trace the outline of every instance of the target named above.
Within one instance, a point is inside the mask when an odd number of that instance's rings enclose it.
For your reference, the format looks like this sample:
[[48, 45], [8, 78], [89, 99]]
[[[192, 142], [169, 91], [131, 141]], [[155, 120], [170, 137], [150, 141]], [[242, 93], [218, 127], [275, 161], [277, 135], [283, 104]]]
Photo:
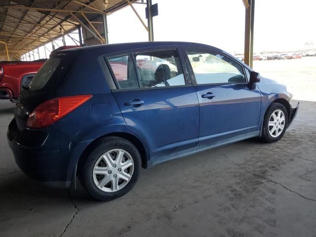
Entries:
[[[136, 1], [136, 0], [130, 0]], [[126, 0], [1, 0], [0, 40], [7, 43], [10, 55], [21, 55], [43, 43], [75, 29], [101, 12], [110, 14], [128, 5]], [[0, 44], [0, 55], [5, 55]]]

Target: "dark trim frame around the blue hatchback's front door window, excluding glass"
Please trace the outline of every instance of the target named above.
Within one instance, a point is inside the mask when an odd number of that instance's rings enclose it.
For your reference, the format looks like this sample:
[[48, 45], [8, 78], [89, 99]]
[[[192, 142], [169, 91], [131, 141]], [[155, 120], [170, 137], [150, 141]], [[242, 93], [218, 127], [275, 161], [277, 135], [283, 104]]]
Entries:
[[[221, 85], [221, 84], [224, 84], [224, 85], [225, 84], [248, 84], [249, 83], [244, 66], [242, 64], [240, 64], [237, 60], [235, 60], [233, 57], [231, 57], [230, 55], [228, 55], [228, 54], [226, 54], [224, 52], [221, 52], [219, 50], [213, 49], [213, 48], [200, 47], [200, 46], [182, 46], [181, 49], [182, 49], [182, 53], [184, 54], [185, 61], [187, 63], [187, 67], [189, 69], [189, 74], [190, 74], [190, 77], [191, 77], [192, 84], [194, 86], [196, 86], [196, 85]], [[186, 51], [187, 49], [201, 50], [201, 51], [205, 51], [207, 53], [212, 53], [213, 52], [213, 53], [219, 53], [219, 54], [225, 55], [227, 58], [231, 59], [234, 63], [236, 63], [237, 65], [239, 65], [242, 68], [243, 76], [244, 76], [245, 81], [244, 82], [223, 82], [223, 83], [197, 84], [197, 79], [195, 77], [193, 68], [191, 66], [190, 59], [189, 59], [187, 51]]]

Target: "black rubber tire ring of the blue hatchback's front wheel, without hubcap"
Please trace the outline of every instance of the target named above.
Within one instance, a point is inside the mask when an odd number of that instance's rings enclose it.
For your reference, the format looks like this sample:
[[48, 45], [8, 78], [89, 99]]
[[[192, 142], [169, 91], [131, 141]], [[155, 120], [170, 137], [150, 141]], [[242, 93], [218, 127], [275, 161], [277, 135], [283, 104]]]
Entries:
[[[276, 110], [281, 110], [285, 116], [285, 125], [284, 125], [284, 129], [283, 131], [281, 132], [281, 134], [277, 137], [272, 137], [269, 133], [269, 119], [272, 115], [272, 113], [274, 113]], [[272, 143], [272, 142], [276, 142], [278, 140], [280, 140], [285, 131], [286, 131], [286, 128], [287, 128], [287, 122], [288, 122], [288, 113], [284, 107], [284, 105], [280, 104], [280, 103], [275, 103], [273, 102], [269, 108], [267, 109], [267, 112], [265, 114], [265, 117], [264, 117], [264, 120], [263, 120], [263, 132], [262, 132], [262, 139], [266, 142], [269, 142], [269, 143]]]

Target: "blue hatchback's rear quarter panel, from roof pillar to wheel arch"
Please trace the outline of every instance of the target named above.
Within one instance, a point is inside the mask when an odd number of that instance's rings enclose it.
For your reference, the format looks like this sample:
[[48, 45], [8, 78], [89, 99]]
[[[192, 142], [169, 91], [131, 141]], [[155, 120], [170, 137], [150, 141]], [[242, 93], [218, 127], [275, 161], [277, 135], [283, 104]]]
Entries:
[[[94, 140], [110, 133], [124, 132], [137, 137], [146, 150], [146, 157], [150, 158], [145, 140], [126, 125], [107, 84], [98, 57], [89, 51], [78, 54], [67, 79], [56, 90], [56, 97], [83, 94], [93, 96], [53, 124], [74, 141], [69, 144], [69, 149], [73, 148], [74, 152], [69, 160], [68, 180], [71, 179], [74, 167], [85, 148]], [[102, 104], [111, 104], [111, 106], [102, 106]]]

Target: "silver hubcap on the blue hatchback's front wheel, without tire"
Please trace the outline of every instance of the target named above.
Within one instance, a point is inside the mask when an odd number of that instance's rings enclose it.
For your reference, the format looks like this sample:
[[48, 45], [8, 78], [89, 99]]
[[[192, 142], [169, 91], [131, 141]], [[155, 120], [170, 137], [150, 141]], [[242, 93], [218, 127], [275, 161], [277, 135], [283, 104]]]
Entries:
[[269, 134], [272, 137], [278, 137], [282, 131], [284, 130], [285, 126], [285, 116], [283, 111], [276, 110], [272, 113], [269, 118], [268, 130]]

